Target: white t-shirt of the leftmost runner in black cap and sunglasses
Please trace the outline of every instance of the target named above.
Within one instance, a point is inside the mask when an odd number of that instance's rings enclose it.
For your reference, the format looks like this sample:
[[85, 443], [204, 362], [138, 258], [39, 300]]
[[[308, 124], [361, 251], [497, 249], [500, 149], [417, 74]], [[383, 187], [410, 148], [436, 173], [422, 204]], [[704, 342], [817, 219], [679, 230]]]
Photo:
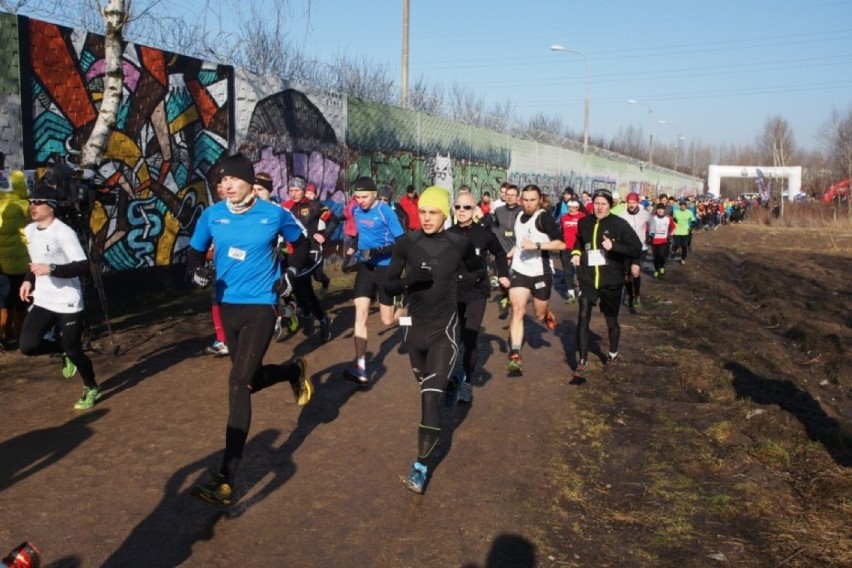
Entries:
[[[86, 260], [86, 253], [77, 235], [59, 219], [54, 219], [46, 229], [39, 229], [36, 223], [30, 223], [24, 228], [24, 234], [30, 260], [34, 264], [61, 265]], [[83, 287], [80, 279], [36, 276], [33, 304], [60, 314], [82, 311]]]

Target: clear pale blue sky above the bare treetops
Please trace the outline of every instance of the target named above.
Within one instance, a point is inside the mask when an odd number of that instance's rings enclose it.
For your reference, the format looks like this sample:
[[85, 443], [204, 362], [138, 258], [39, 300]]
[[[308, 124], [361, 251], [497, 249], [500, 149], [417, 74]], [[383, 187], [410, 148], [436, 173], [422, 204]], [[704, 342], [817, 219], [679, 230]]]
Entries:
[[[304, 6], [291, 0], [291, 39], [308, 55], [363, 56], [398, 80], [402, 0], [313, 0], [309, 22]], [[832, 108], [852, 105], [850, 0], [411, 0], [410, 83], [458, 83], [581, 132], [583, 57], [556, 43], [586, 53], [590, 130], [607, 140], [633, 125], [743, 145], [777, 114], [817, 149]]]

